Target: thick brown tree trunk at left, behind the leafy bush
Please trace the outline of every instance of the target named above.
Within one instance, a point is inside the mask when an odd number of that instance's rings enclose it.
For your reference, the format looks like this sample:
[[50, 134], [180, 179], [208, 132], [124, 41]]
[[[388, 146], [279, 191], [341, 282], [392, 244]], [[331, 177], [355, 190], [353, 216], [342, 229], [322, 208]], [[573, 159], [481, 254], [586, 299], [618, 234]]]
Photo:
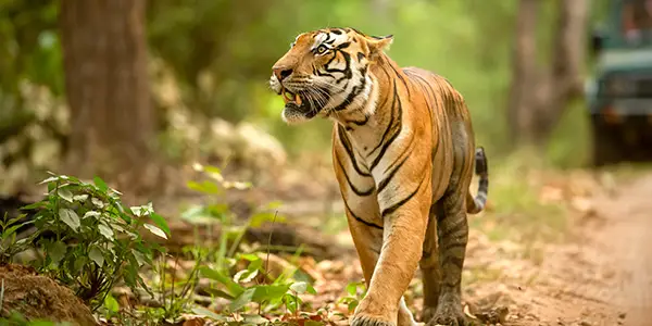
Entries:
[[137, 185], [154, 133], [145, 0], [62, 0], [60, 24], [71, 108], [67, 168]]

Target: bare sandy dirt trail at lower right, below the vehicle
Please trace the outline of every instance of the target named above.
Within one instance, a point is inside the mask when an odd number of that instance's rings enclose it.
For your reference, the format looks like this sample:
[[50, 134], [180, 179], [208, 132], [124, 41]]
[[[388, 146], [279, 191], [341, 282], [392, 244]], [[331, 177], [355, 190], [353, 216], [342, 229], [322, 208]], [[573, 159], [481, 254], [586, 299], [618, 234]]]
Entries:
[[593, 199], [573, 240], [550, 249], [521, 293], [535, 321], [514, 325], [652, 325], [652, 174]]

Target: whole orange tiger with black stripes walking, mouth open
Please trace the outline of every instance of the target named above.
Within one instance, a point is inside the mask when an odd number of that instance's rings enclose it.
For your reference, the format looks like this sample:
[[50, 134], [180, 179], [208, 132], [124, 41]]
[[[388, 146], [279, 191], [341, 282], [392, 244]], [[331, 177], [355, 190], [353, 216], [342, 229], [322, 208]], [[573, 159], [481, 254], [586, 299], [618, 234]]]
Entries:
[[399, 67], [386, 53], [392, 41], [350, 27], [302, 33], [274, 63], [269, 88], [286, 124], [334, 122], [334, 172], [367, 286], [351, 325], [416, 325], [403, 294], [417, 268], [421, 319], [466, 325], [467, 214], [487, 202], [487, 158], [462, 95], [435, 73]]

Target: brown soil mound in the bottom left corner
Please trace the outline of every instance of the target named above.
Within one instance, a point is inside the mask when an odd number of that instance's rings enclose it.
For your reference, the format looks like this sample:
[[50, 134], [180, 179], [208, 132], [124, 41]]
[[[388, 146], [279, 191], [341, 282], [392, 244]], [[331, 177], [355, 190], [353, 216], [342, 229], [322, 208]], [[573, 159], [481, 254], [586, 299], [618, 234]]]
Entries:
[[0, 279], [4, 286], [0, 317], [9, 317], [10, 312], [16, 311], [28, 321], [42, 318], [79, 326], [98, 325], [90, 309], [75, 293], [30, 267], [2, 265]]

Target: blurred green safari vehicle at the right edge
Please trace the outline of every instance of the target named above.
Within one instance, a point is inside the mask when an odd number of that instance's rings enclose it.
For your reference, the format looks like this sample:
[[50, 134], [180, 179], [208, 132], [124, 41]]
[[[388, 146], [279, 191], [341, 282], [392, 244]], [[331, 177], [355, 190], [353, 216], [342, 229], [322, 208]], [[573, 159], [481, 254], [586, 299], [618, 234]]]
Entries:
[[593, 165], [652, 161], [652, 0], [612, 0], [592, 36]]

